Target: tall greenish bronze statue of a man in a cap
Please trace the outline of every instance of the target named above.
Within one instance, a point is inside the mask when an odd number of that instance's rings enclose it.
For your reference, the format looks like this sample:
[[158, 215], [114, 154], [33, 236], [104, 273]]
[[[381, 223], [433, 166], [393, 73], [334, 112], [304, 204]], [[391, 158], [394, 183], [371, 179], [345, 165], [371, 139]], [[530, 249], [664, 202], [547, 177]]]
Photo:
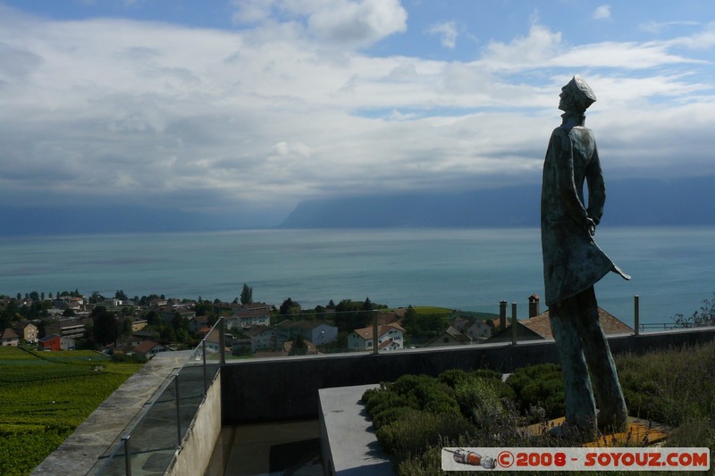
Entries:
[[601, 329], [593, 284], [609, 271], [630, 277], [593, 241], [606, 199], [596, 141], [584, 127], [585, 110], [596, 96], [576, 75], [559, 97], [563, 121], [551, 133], [543, 163], [543, 280], [566, 386], [565, 428], [593, 438], [599, 427], [623, 430], [627, 425], [626, 402]]

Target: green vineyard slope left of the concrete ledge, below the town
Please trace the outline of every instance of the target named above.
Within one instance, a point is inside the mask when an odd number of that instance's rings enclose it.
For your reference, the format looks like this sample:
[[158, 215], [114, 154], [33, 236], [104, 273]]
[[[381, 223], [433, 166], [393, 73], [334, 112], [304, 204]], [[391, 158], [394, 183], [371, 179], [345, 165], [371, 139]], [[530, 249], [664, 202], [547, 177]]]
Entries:
[[29, 474], [141, 363], [0, 347], [0, 474]]

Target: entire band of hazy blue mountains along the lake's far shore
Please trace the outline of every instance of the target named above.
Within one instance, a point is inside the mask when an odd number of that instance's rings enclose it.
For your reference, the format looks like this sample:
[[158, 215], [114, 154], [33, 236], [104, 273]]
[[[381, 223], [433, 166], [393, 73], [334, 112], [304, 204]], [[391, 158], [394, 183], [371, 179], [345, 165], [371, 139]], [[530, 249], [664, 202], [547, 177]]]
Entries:
[[[611, 180], [603, 224], [715, 225], [715, 178]], [[283, 220], [237, 206], [226, 213], [147, 206], [0, 206], [0, 235], [207, 231], [248, 228], [535, 227], [541, 185], [470, 192], [353, 196], [300, 203]], [[283, 215], [284, 216], [284, 215]], [[283, 220], [283, 221], [282, 221]], [[281, 222], [282, 221], [282, 222]]]

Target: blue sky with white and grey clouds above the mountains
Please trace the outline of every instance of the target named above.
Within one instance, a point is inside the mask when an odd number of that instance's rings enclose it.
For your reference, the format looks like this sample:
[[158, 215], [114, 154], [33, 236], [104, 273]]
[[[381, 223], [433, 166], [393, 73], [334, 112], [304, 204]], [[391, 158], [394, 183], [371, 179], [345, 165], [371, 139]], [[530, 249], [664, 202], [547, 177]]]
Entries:
[[0, 0], [0, 199], [263, 226], [534, 183], [575, 73], [607, 179], [715, 176], [713, 53], [690, 0]]

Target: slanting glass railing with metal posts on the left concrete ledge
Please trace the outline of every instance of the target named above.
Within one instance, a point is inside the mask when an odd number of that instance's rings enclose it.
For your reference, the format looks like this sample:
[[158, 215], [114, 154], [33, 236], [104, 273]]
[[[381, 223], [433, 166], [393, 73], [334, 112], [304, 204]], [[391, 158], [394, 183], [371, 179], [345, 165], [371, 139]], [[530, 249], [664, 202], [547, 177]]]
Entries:
[[223, 319], [156, 390], [147, 411], [123, 432], [121, 441], [94, 474], [138, 476], [163, 473], [181, 448], [206, 391], [225, 362]]

